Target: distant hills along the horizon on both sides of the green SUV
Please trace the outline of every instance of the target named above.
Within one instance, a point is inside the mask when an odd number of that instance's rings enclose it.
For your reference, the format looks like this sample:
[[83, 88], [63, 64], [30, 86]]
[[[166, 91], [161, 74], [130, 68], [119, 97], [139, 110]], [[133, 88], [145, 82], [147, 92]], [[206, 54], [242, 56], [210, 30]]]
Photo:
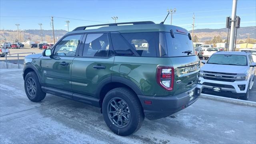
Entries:
[[[54, 30], [55, 41], [66, 34], [66, 30]], [[192, 30], [190, 30], [192, 33]], [[240, 27], [237, 30], [237, 40], [245, 40], [250, 34], [250, 38], [256, 39], [256, 26]], [[34, 42], [41, 41], [41, 32], [40, 30], [22, 30], [20, 32], [21, 42], [31, 39]], [[42, 30], [43, 40], [47, 42], [53, 42], [52, 30]], [[206, 40], [211, 40], [214, 36], [220, 35], [223, 40], [227, 38], [228, 29], [196, 29], [194, 30], [194, 36], [198, 36], [199, 42], [204, 42]], [[17, 30], [0, 30], [0, 41], [3, 42], [4, 37], [7, 42], [14, 42], [15, 39], [18, 39]]]

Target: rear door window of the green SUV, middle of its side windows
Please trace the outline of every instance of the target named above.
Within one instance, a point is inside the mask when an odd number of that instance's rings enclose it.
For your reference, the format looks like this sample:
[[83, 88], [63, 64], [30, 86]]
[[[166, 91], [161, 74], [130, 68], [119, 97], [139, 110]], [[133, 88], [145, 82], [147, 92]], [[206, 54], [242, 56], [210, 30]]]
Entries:
[[108, 34], [87, 34], [83, 56], [107, 57], [109, 53]]

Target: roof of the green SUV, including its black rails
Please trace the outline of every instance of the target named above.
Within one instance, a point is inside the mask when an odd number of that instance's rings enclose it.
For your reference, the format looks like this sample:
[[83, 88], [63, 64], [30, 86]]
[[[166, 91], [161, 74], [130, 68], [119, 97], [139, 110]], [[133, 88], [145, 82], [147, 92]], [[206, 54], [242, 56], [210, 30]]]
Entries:
[[[130, 25], [127, 25], [127, 24], [130, 24]], [[98, 26], [102, 26], [102, 27], [97, 28]], [[86, 29], [88, 27], [90, 28], [94, 27], [94, 29]], [[154, 22], [147, 21], [147, 22], [126, 22], [126, 23], [102, 24], [102, 25], [94, 25], [94, 26], [81, 26], [81, 27], [75, 28], [71, 32], [68, 32], [66, 35], [85, 33], [85, 32], [132, 33], [132, 32], [170, 32], [170, 30], [173, 30], [173, 32], [175, 33], [185, 32], [186, 34], [188, 34], [188, 31], [186, 29], [178, 26], [167, 25], [167, 24], [155, 24]]]

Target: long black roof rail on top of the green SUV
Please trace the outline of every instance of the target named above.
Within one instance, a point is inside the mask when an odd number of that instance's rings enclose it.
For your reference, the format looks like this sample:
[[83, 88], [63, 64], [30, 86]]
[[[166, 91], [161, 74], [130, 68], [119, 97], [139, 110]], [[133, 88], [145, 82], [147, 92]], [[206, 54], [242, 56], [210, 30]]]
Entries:
[[90, 25], [90, 26], [80, 26], [80, 27], [75, 28], [73, 31], [85, 30], [88, 27], [95, 27], [95, 26], [117, 26], [119, 24], [133, 24], [133, 25], [136, 25], [136, 24], [155, 24], [155, 23], [152, 22], [152, 21], [142, 21], [142, 22], [120, 22], [120, 23], [112, 23], [112, 24], [96, 24], [96, 25]]

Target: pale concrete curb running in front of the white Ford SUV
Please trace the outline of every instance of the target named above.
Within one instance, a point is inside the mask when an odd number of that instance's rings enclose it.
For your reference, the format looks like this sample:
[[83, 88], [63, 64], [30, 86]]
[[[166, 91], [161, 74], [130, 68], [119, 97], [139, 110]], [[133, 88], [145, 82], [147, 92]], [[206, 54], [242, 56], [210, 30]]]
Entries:
[[214, 95], [210, 95], [210, 94], [200, 94], [200, 97], [205, 98], [205, 99], [210, 99], [210, 100], [217, 100], [217, 101], [220, 101], [220, 102], [228, 102], [228, 103], [232, 103], [232, 104], [239, 104], [239, 105], [244, 105], [244, 106], [256, 107], [256, 102], [247, 101], [247, 100], [226, 98], [226, 97], [214, 96]]

